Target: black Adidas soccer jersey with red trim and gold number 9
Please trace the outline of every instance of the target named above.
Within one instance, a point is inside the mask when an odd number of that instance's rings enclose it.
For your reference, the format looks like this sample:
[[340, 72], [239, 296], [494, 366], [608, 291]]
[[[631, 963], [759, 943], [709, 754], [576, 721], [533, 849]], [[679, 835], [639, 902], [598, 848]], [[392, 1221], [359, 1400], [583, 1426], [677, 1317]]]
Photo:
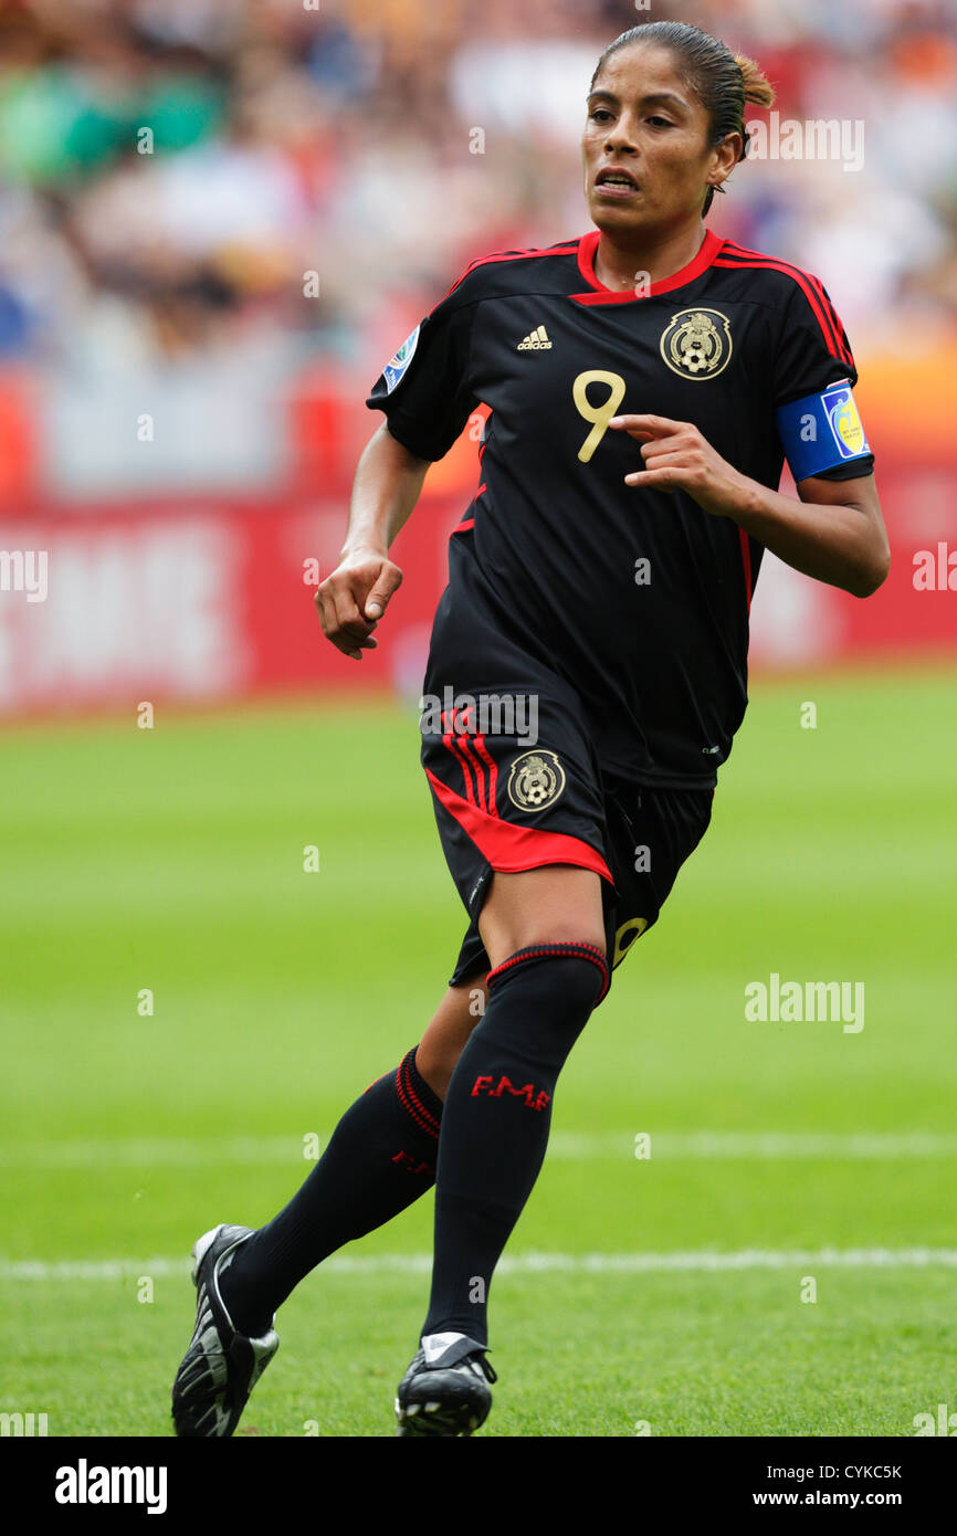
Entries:
[[[641, 449], [607, 422], [636, 412], [694, 422], [776, 488], [776, 409], [854, 384], [854, 359], [820, 281], [788, 263], [708, 232], [684, 270], [614, 293], [594, 276], [598, 240], [472, 263], [367, 399], [424, 459], [490, 407], [427, 688], [521, 687], [482, 656], [484, 637], [501, 634], [575, 690], [610, 771], [713, 785], [747, 705], [763, 547], [684, 492], [625, 485]], [[840, 459], [825, 473], [873, 465], [869, 453]]]

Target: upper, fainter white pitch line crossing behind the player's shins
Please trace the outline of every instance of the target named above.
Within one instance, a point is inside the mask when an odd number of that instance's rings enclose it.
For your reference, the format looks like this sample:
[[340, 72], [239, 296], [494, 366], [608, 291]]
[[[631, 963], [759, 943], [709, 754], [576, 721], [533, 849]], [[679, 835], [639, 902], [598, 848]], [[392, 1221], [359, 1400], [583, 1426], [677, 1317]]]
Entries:
[[[555, 1130], [551, 1161], [634, 1158], [636, 1135], [628, 1130]], [[310, 1132], [312, 1134], [312, 1132]], [[320, 1149], [326, 1137], [320, 1132]], [[897, 1158], [957, 1158], [957, 1134], [934, 1130], [650, 1130], [650, 1160], [711, 1161], [896, 1161]], [[221, 1164], [301, 1163], [304, 1138], [284, 1137], [135, 1137], [97, 1141], [14, 1141], [0, 1144], [0, 1169], [81, 1167], [214, 1167]]]

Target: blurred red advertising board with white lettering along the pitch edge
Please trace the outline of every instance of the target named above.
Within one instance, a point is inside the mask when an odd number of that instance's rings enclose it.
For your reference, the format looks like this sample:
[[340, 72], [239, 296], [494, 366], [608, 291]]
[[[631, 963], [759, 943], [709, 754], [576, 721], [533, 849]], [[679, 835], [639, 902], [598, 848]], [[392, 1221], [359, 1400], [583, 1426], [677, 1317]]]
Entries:
[[[756, 668], [957, 654], [957, 470], [888, 468], [880, 490], [885, 587], [859, 601], [767, 559], [751, 610]], [[313, 687], [415, 694], [467, 499], [419, 501], [393, 547], [404, 584], [381, 648], [361, 662], [323, 641], [312, 602], [316, 562], [326, 576], [338, 561], [346, 498], [0, 516], [0, 713]]]

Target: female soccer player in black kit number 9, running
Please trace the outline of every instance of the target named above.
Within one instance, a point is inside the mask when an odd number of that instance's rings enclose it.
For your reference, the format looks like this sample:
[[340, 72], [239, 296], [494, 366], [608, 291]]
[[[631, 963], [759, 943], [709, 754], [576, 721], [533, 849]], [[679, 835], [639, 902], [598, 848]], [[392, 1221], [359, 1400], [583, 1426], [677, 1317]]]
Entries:
[[[745, 154], [747, 101], [773, 101], [767, 80], [697, 28], [624, 32], [587, 101], [596, 227], [473, 261], [369, 396], [386, 422], [316, 596], [324, 634], [356, 660], [402, 579], [389, 545], [429, 464], [490, 407], [422, 714], [470, 925], [419, 1044], [347, 1111], [290, 1204], [258, 1232], [198, 1240], [180, 1435], [230, 1435], [278, 1346], [275, 1309], [432, 1183], [432, 1298], [398, 1433], [484, 1421], [488, 1284], [562, 1064], [708, 826], [747, 703], [762, 553], [859, 598], [888, 573], [825, 289], [704, 226]], [[785, 458], [799, 501], [776, 488]]]

